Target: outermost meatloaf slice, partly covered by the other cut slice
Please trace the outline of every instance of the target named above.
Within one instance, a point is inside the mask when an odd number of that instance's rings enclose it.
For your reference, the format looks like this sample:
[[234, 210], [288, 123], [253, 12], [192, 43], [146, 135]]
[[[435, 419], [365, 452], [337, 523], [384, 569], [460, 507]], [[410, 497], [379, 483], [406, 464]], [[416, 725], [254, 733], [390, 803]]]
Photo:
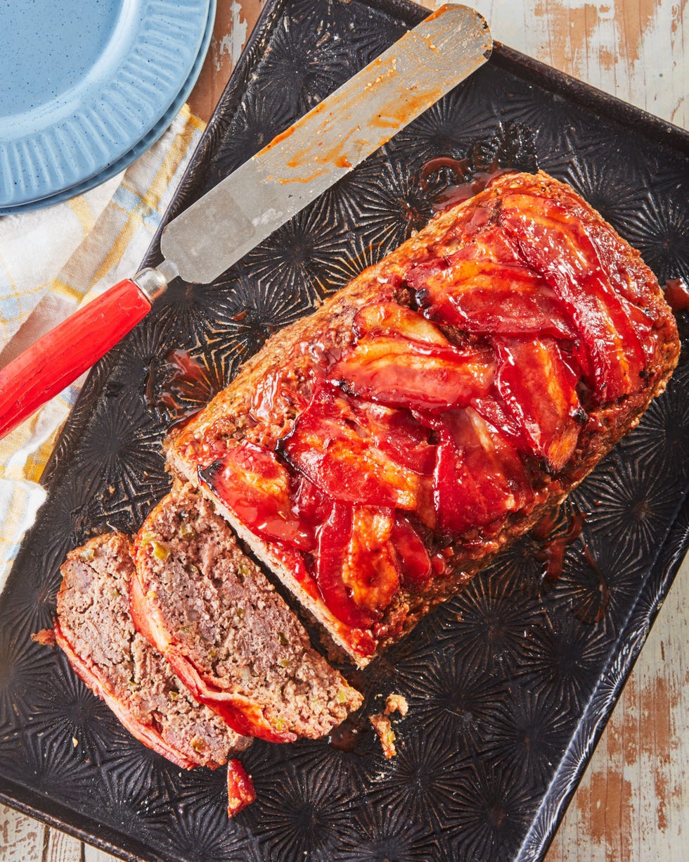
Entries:
[[197, 703], [129, 615], [134, 565], [126, 535], [98, 536], [62, 565], [55, 640], [127, 730], [172, 763], [215, 768], [251, 740]]

